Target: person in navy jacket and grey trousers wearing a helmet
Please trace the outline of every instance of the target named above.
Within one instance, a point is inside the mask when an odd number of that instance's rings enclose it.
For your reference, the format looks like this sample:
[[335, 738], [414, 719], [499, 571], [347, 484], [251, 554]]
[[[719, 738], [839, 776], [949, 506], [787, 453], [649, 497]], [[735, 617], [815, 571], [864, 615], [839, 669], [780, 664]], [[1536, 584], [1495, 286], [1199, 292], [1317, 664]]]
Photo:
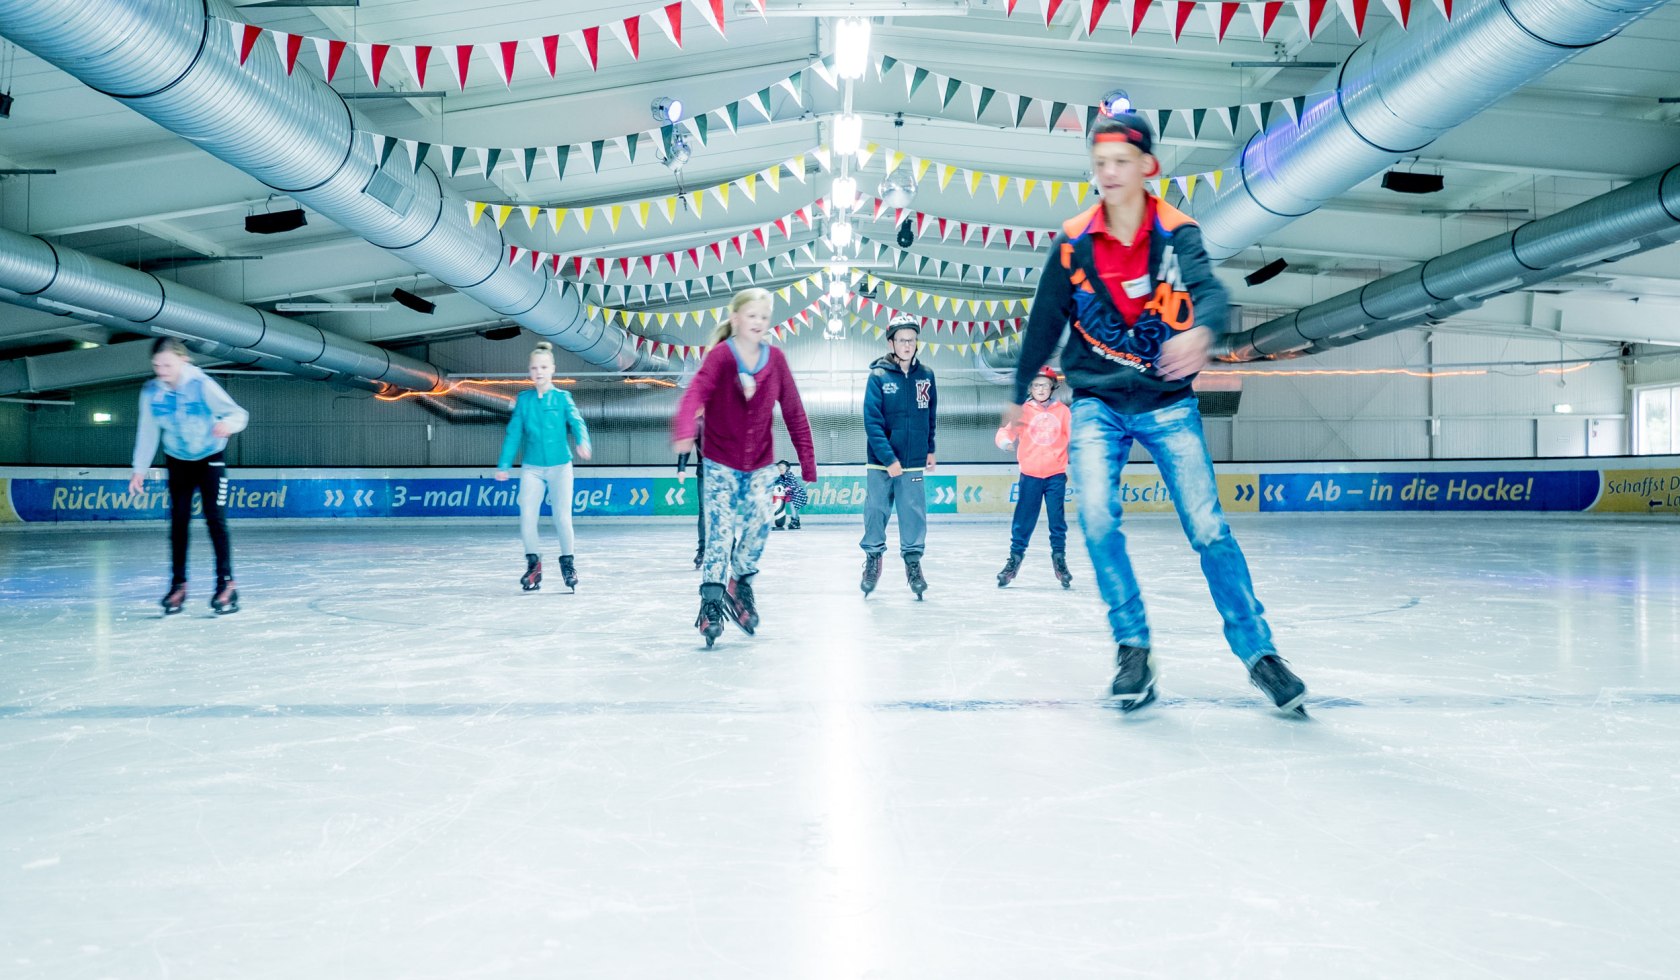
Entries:
[[934, 373], [916, 358], [922, 323], [900, 313], [887, 324], [887, 356], [869, 366], [864, 388], [864, 432], [869, 437], [869, 477], [864, 503], [864, 595], [880, 582], [887, 551], [887, 518], [899, 514], [899, 553], [904, 578], [919, 600], [927, 592], [922, 551], [927, 543], [927, 493], [932, 472], [939, 390]]

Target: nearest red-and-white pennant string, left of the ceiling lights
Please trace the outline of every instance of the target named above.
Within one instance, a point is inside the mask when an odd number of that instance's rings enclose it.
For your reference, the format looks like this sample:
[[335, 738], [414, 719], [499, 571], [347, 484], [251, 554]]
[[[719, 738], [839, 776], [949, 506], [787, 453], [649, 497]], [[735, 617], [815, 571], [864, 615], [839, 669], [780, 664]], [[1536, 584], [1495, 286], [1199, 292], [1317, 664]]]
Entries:
[[[764, 0], [751, 0], [758, 7], [759, 13], [764, 12]], [[344, 52], [354, 50], [356, 61], [361, 64], [361, 71], [366, 74], [368, 81], [375, 87], [388, 84], [391, 81], [391, 72], [386, 71], [390, 64], [391, 52], [396, 54], [398, 64], [408, 71], [408, 77], [415, 81], [422, 89], [425, 87], [427, 76], [433, 59], [442, 59], [445, 71], [460, 86], [462, 91], [467, 87], [467, 76], [472, 71], [474, 55], [480, 54], [484, 61], [491, 64], [491, 71], [496, 77], [502, 81], [504, 86], [512, 87], [514, 84], [514, 64], [519, 61], [519, 52], [529, 54], [543, 74], [549, 79], [559, 71], [559, 40], [564, 37], [578, 49], [578, 54], [588, 62], [590, 71], [600, 71], [601, 67], [601, 34], [618, 39], [618, 44], [630, 54], [632, 61], [642, 59], [642, 27], [652, 22], [657, 30], [660, 30], [672, 45], [682, 47], [682, 27], [684, 27], [684, 10], [692, 7], [696, 13], [701, 15], [707, 25], [717, 30], [719, 37], [727, 37], [724, 25], [724, 5], [726, 0], [674, 0], [670, 3], [662, 3], [647, 13], [635, 13], [623, 18], [608, 20], [606, 24], [598, 24], [593, 27], [581, 27], [578, 30], [568, 30], [564, 34], [546, 34], [539, 37], [521, 37], [514, 40], [486, 40], [486, 42], [455, 42], [455, 44], [383, 44], [383, 42], [360, 42], [360, 40], [339, 40], [334, 37], [318, 37], [309, 34], [291, 34], [286, 30], [274, 30], [269, 27], [257, 27], [255, 24], [245, 24], [240, 20], [223, 20], [234, 32], [234, 44], [239, 47], [239, 64], [247, 64], [250, 61], [252, 50], [262, 35], [269, 35], [274, 42], [276, 52], [286, 64], [286, 74], [292, 74], [297, 67], [297, 59], [302, 49], [307, 45], [314, 50], [316, 61], [321, 64], [321, 77], [328, 82], [338, 76], [338, 71], [344, 66]]]

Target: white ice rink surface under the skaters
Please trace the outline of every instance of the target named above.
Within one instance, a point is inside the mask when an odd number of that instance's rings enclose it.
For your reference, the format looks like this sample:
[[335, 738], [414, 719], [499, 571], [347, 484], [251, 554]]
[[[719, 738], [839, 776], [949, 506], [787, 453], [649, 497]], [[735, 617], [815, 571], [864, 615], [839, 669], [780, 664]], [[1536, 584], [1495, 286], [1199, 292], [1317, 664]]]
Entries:
[[[1233, 519], [1310, 719], [1262, 706], [1171, 518], [1129, 523], [1161, 701], [1077, 530], [927, 602], [774, 533], [756, 637], [690, 524], [0, 535], [0, 977], [1673, 977], [1680, 530]], [[895, 531], [889, 533], [895, 541]], [[551, 558], [544, 555], [544, 558]]]

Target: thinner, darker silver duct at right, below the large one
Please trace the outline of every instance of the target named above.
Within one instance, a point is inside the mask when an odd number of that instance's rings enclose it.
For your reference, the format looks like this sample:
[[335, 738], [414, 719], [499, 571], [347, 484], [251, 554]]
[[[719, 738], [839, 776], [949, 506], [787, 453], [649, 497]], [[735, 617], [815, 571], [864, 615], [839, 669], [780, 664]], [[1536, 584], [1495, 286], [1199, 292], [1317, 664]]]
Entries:
[[1230, 338], [1236, 360], [1312, 353], [1475, 309], [1490, 296], [1680, 240], [1680, 166]]

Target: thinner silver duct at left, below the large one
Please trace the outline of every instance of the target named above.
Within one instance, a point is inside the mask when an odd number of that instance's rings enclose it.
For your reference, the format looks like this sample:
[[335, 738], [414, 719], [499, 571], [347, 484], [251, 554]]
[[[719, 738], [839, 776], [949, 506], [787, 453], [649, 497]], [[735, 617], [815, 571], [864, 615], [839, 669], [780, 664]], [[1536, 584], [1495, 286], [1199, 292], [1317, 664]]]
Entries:
[[442, 385], [442, 373], [425, 361], [7, 229], [0, 229], [0, 299], [181, 336], [198, 341], [195, 350], [208, 356], [304, 378], [346, 375], [370, 382], [371, 390], [430, 392]]

